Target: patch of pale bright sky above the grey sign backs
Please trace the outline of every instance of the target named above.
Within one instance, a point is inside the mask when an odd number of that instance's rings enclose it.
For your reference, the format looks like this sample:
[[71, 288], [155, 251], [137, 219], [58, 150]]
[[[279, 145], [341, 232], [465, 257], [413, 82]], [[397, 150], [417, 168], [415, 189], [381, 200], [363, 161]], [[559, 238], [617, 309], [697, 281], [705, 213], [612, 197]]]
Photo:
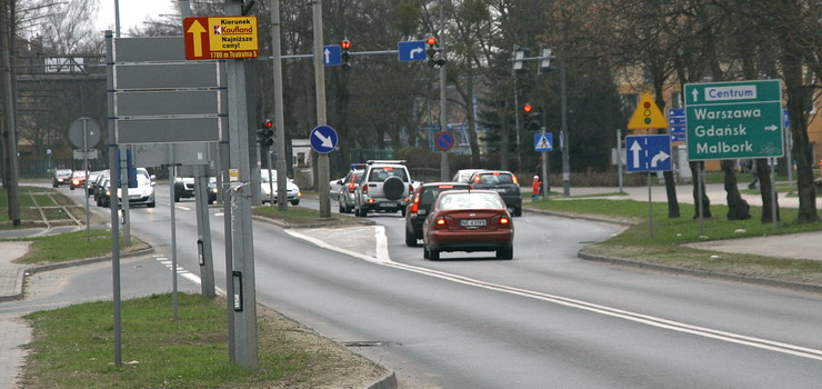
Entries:
[[[160, 20], [160, 14], [177, 13], [174, 0], [120, 0], [120, 31], [124, 36], [132, 27], [142, 27], [149, 17]], [[97, 30], [114, 30], [114, 0], [100, 0]]]

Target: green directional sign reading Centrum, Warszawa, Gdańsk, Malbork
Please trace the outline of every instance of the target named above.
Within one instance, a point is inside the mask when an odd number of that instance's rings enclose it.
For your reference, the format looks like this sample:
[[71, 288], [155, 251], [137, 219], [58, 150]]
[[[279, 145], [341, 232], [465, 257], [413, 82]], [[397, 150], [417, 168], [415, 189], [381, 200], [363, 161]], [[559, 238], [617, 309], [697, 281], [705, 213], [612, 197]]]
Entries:
[[685, 84], [688, 159], [784, 156], [780, 80]]

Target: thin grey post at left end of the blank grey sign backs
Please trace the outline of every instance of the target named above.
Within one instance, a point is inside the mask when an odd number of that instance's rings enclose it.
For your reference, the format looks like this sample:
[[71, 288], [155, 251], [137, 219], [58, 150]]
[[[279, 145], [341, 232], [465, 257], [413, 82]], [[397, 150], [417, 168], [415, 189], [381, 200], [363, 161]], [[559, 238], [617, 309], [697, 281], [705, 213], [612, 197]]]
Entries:
[[[117, 188], [119, 176], [117, 174], [117, 143], [114, 139], [114, 54], [113, 37], [111, 30], [106, 31], [106, 69], [109, 106], [109, 168], [111, 173], [111, 194], [109, 196], [109, 211], [111, 213], [111, 279], [113, 299], [113, 326], [114, 326], [114, 366], [122, 366], [122, 327], [120, 310], [120, 218], [117, 212]], [[113, 201], [112, 201], [113, 200]]]

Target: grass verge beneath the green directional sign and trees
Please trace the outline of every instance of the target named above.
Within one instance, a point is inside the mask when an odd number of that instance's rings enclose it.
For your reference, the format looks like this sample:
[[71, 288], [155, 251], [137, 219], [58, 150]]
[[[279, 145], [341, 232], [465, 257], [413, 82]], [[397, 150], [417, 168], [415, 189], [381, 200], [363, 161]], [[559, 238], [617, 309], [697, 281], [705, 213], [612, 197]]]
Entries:
[[[694, 249], [685, 243], [709, 240], [753, 238], [773, 235], [772, 223], [762, 223], [761, 207], [751, 207], [749, 220], [725, 220], [726, 206], [711, 206], [714, 216], [704, 220], [700, 233], [693, 205], [680, 205], [680, 218], [668, 217], [668, 205], [653, 203], [653, 237], [649, 225], [648, 202], [632, 200], [571, 199], [527, 203], [527, 207], [571, 216], [589, 216], [633, 225], [604, 242], [593, 245], [590, 253], [630, 259], [648, 263], [678, 267], [742, 277], [758, 277], [822, 286], [822, 261], [784, 259], [746, 253], [728, 253]], [[822, 222], [798, 223], [796, 209], [781, 208], [778, 233], [822, 230]]]

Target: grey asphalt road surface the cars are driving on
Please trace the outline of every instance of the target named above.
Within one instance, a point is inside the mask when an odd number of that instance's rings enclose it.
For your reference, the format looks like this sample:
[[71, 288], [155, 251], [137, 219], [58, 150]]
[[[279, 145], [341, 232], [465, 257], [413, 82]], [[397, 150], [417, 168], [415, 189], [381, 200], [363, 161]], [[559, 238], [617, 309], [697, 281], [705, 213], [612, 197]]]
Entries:
[[[158, 208], [133, 210], [132, 231], [170, 257], [168, 207], [161, 194]], [[220, 212], [211, 209], [218, 286]], [[177, 215], [179, 266], [196, 273], [193, 201]], [[390, 259], [342, 255], [255, 223], [258, 302], [352, 345], [395, 370], [403, 388], [822, 382], [819, 295], [581, 261], [581, 247], [619, 228], [528, 213], [514, 220], [512, 261], [445, 253], [431, 262], [404, 246], [399, 213], [371, 218], [384, 228]], [[359, 240], [341, 237], [339, 246]]]

